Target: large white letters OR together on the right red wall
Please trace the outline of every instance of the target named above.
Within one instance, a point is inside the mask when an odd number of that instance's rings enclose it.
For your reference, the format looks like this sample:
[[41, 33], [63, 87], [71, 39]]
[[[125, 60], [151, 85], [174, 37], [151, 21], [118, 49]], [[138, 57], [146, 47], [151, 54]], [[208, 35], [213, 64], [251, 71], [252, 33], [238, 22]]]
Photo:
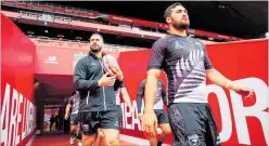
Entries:
[[[232, 129], [232, 120], [230, 106], [228, 104], [227, 95], [223, 89], [210, 84], [207, 85], [208, 93], [215, 93], [219, 101], [221, 112], [222, 130], [220, 132], [221, 142], [227, 142], [231, 138], [232, 133], [236, 132], [239, 144], [251, 145], [249, 131], [247, 127], [246, 117], [256, 117], [260, 123], [264, 136], [268, 143], [268, 119], [269, 112], [264, 111], [269, 107], [268, 105], [268, 89], [264, 81], [258, 78], [246, 78], [234, 81], [235, 83], [252, 88], [256, 93], [256, 103], [253, 106], [243, 106], [243, 97], [233, 91], [230, 91], [232, 111], [234, 114], [235, 130]], [[258, 125], [257, 125], [258, 127]]]

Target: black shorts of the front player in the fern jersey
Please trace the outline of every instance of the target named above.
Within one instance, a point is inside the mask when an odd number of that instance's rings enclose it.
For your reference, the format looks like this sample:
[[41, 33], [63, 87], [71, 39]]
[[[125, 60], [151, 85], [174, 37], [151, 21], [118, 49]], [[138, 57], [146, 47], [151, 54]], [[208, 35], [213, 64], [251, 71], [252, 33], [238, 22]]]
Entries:
[[168, 107], [172, 146], [220, 146], [217, 125], [208, 104], [179, 103]]

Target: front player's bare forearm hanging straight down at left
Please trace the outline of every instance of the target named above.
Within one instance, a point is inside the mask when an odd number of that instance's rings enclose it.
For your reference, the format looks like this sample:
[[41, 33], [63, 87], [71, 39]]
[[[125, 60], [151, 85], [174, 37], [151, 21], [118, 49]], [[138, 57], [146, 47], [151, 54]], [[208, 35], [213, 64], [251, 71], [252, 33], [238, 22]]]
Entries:
[[153, 110], [154, 98], [157, 92], [157, 78], [149, 75], [145, 83], [145, 106], [144, 110]]

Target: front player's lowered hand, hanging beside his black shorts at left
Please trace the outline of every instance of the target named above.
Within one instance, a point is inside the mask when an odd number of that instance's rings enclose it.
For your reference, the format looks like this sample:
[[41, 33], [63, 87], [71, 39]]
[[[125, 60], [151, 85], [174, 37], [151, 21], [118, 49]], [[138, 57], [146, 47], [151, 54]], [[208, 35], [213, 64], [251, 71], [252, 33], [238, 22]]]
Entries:
[[154, 110], [144, 110], [143, 127], [146, 133], [154, 135], [157, 129], [157, 117]]

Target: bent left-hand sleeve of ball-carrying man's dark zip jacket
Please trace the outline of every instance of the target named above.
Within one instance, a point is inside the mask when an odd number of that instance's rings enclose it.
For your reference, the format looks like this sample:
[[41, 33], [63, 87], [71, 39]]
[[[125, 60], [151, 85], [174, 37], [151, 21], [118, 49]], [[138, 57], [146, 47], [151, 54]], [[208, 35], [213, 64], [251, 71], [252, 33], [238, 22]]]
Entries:
[[86, 63], [78, 61], [74, 72], [74, 85], [77, 91], [93, 91], [99, 88], [98, 80], [86, 80]]

